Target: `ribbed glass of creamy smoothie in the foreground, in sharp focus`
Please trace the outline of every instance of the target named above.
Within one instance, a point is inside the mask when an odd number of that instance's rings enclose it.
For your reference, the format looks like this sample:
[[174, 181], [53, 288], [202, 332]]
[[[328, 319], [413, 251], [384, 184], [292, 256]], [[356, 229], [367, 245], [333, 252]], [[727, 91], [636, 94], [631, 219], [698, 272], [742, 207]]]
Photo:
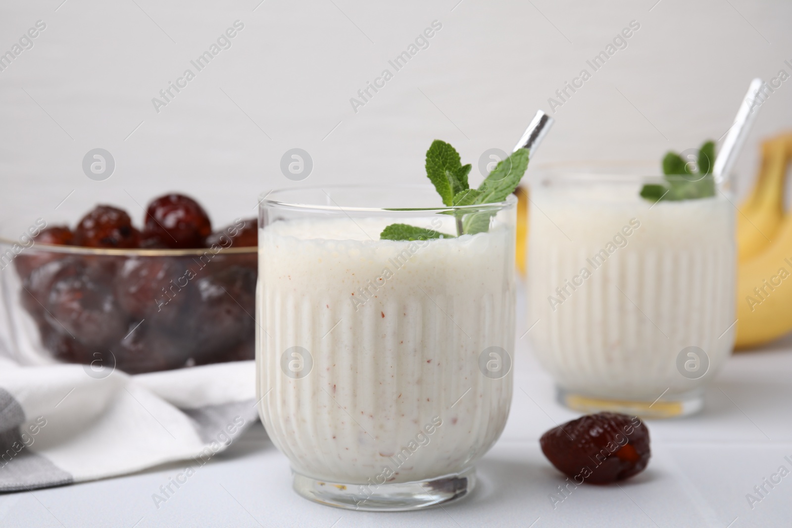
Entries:
[[[258, 408], [310, 500], [372, 511], [457, 500], [503, 431], [516, 199], [438, 200], [429, 185], [261, 199]], [[470, 215], [489, 228], [456, 236]], [[433, 237], [381, 240], [394, 223]]]

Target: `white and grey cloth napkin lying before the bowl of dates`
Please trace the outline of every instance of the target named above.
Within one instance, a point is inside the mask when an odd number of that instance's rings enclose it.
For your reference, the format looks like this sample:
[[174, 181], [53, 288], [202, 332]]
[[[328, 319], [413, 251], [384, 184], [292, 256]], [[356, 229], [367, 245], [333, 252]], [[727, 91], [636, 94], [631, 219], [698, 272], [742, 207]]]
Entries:
[[0, 357], [0, 492], [204, 465], [257, 420], [253, 361], [106, 377], [86, 369]]

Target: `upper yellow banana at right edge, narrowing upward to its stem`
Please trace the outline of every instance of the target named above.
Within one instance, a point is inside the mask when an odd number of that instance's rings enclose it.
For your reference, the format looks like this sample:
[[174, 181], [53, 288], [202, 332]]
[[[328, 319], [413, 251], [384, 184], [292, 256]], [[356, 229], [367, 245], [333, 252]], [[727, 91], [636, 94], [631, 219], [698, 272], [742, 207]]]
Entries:
[[784, 173], [792, 136], [782, 135], [762, 144], [762, 165], [756, 185], [737, 215], [738, 259], [759, 255], [774, 239], [784, 214]]

